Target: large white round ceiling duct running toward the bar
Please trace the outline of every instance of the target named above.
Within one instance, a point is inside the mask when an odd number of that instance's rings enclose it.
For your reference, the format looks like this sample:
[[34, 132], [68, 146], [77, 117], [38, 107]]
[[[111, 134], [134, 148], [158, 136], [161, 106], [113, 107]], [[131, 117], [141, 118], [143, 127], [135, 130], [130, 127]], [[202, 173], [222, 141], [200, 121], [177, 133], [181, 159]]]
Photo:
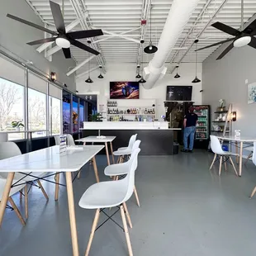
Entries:
[[192, 16], [200, 0], [173, 0], [172, 7], [168, 13], [164, 30], [159, 39], [159, 50], [154, 54], [154, 58], [145, 67], [145, 89], [151, 89], [160, 78], [164, 77], [167, 68], [164, 67], [169, 52], [181, 36], [188, 20]]

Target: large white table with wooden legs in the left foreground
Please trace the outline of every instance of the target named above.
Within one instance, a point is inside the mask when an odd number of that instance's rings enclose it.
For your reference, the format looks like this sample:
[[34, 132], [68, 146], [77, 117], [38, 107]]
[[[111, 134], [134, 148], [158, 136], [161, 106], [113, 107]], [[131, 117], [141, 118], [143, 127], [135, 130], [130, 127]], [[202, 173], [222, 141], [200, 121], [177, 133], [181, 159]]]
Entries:
[[72, 172], [78, 171], [87, 164], [90, 159], [93, 161], [94, 172], [97, 177], [97, 164], [95, 155], [101, 151], [103, 145], [87, 145], [78, 146], [82, 149], [68, 150], [63, 154], [59, 154], [59, 146], [53, 146], [46, 149], [40, 149], [27, 154], [17, 155], [10, 159], [3, 159], [0, 161], [0, 173], [8, 173], [6, 185], [2, 193], [2, 200], [0, 204], [0, 225], [5, 208], [7, 206], [7, 199], [12, 187], [12, 181], [16, 172], [65, 172], [66, 186], [69, 202], [69, 221], [71, 229], [71, 239], [73, 246], [73, 256], [79, 256], [78, 252], [78, 234], [75, 220], [75, 211], [73, 204], [73, 185]]

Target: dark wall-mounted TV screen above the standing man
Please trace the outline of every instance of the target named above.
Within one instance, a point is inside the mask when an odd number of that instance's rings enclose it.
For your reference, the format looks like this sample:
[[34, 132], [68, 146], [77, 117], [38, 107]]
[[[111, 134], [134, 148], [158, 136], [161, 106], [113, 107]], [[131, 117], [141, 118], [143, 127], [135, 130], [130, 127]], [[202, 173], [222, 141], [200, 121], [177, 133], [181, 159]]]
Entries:
[[167, 86], [166, 92], [167, 101], [191, 101], [192, 86]]

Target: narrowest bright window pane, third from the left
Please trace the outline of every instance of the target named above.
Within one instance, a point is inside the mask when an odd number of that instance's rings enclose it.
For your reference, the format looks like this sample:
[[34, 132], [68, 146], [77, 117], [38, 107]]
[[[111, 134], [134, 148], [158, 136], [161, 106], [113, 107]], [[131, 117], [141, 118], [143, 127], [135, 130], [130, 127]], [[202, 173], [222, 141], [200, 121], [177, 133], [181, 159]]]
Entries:
[[60, 100], [50, 97], [50, 135], [60, 134]]

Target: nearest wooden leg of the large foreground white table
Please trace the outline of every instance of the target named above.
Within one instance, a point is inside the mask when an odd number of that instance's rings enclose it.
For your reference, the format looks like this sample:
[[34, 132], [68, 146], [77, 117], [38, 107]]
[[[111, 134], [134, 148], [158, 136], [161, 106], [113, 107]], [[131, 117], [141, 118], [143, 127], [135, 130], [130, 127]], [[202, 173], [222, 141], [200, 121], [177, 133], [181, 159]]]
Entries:
[[75, 211], [74, 211], [74, 205], [73, 205], [72, 175], [70, 172], [66, 173], [66, 185], [67, 185], [68, 203], [69, 203], [69, 221], [70, 221], [71, 239], [72, 239], [72, 247], [73, 247], [73, 256], [79, 256], [78, 231], [77, 231]]

